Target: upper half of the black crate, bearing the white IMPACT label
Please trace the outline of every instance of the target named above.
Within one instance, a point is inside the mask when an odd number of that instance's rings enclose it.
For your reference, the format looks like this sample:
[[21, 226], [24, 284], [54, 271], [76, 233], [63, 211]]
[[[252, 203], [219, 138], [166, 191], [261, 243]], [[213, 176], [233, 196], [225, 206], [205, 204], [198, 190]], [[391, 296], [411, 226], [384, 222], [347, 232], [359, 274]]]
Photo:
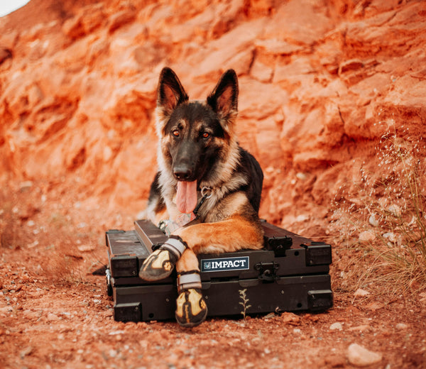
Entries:
[[[163, 244], [167, 236], [150, 221], [136, 221], [136, 231], [107, 233], [111, 274], [117, 285], [139, 284], [138, 270], [152, 247]], [[202, 281], [223, 280], [224, 278], [256, 278], [261, 271], [259, 263], [274, 263], [275, 274], [305, 275], [328, 273], [332, 260], [331, 246], [315, 243], [309, 238], [301, 237], [266, 222], [266, 247], [262, 250], [240, 250], [235, 253], [198, 255]], [[291, 245], [290, 245], [290, 241]], [[218, 268], [206, 268], [207, 266]], [[222, 268], [227, 265], [226, 268]], [[128, 268], [128, 271], [125, 271]], [[129, 277], [129, 280], [117, 280], [117, 277]]]

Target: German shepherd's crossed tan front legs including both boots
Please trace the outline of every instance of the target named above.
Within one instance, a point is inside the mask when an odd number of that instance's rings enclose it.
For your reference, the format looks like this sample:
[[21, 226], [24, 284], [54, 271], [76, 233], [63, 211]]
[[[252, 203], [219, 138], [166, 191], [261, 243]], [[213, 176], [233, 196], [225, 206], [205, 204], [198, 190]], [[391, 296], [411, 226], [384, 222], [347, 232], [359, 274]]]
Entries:
[[176, 265], [179, 296], [175, 317], [181, 326], [192, 327], [202, 323], [207, 316], [197, 254], [226, 253], [262, 246], [261, 226], [243, 216], [195, 224], [175, 231], [160, 249], [145, 260], [139, 276], [144, 280], [160, 280], [170, 275]]

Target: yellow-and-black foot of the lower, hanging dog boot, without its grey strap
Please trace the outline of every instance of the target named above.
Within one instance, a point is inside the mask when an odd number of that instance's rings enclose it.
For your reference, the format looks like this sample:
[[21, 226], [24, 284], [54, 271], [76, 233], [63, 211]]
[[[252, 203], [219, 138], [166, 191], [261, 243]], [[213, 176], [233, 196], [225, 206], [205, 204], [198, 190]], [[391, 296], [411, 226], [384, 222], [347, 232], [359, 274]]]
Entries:
[[190, 288], [180, 292], [176, 300], [176, 321], [185, 328], [201, 324], [207, 316], [207, 304], [201, 290]]

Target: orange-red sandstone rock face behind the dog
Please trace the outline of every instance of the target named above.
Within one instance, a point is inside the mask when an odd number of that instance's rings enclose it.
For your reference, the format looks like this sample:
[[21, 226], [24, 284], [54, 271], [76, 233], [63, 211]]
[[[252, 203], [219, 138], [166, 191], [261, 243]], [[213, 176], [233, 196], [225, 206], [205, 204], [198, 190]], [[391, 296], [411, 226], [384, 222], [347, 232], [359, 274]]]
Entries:
[[0, 18], [3, 184], [75, 182], [136, 214], [165, 65], [193, 99], [236, 70], [240, 143], [266, 175], [261, 216], [285, 225], [312, 206], [327, 216], [354, 160], [375, 167], [384, 134], [425, 136], [424, 1], [62, 3]]

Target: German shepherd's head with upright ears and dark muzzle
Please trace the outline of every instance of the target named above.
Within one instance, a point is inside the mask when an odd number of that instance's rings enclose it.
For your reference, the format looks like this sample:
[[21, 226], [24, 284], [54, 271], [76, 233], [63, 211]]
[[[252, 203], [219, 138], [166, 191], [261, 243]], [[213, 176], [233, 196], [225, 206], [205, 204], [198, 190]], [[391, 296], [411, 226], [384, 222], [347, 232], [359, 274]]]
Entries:
[[214, 175], [215, 166], [229, 160], [229, 148], [236, 143], [237, 111], [234, 70], [222, 75], [206, 101], [190, 101], [175, 72], [168, 67], [161, 71], [156, 109], [160, 160], [178, 181], [178, 194], [179, 187], [193, 192], [197, 183]]

